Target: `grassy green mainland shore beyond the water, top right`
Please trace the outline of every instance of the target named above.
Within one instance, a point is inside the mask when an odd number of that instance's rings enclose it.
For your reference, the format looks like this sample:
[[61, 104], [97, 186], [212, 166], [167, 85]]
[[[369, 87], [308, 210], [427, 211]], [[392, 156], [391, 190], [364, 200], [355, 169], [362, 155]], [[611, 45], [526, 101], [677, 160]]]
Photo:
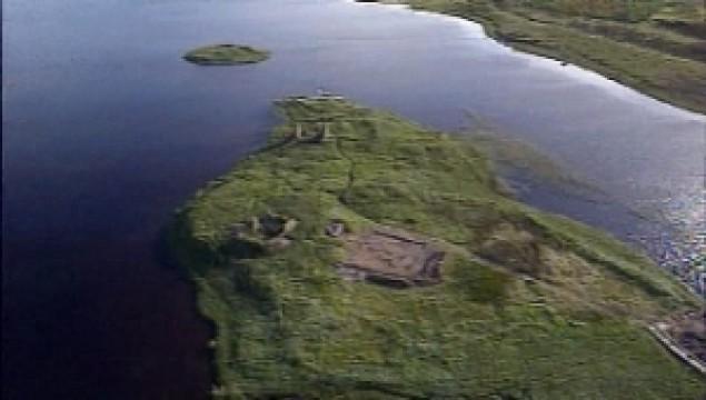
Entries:
[[490, 37], [513, 48], [588, 68], [659, 100], [706, 113], [702, 0], [387, 2], [479, 22]]

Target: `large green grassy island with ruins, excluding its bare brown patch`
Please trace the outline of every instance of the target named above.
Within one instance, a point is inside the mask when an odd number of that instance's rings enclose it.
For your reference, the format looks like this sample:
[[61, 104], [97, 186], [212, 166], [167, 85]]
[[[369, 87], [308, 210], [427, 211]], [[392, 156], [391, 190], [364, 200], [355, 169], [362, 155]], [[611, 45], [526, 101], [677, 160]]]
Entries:
[[[647, 258], [501, 194], [461, 139], [339, 99], [279, 109], [269, 146], [188, 202], [170, 236], [215, 321], [216, 397], [706, 394], [644, 328], [697, 301]], [[440, 283], [344, 279], [331, 221], [434, 240]]]

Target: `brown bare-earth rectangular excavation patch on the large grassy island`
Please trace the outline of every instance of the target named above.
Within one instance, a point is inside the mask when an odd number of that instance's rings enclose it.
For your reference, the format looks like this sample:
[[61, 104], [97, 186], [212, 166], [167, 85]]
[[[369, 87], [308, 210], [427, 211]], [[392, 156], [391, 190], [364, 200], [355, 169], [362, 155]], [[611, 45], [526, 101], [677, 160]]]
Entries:
[[335, 267], [344, 279], [395, 288], [429, 286], [441, 281], [445, 252], [409, 233], [376, 229], [347, 234], [347, 257]]

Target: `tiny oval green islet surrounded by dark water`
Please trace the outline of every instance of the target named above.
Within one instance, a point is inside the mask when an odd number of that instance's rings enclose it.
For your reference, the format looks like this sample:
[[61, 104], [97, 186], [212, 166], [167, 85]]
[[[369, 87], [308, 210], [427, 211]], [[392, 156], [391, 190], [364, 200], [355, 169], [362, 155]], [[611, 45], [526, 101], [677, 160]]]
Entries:
[[215, 44], [187, 52], [183, 59], [201, 66], [236, 66], [267, 60], [269, 51], [249, 46]]

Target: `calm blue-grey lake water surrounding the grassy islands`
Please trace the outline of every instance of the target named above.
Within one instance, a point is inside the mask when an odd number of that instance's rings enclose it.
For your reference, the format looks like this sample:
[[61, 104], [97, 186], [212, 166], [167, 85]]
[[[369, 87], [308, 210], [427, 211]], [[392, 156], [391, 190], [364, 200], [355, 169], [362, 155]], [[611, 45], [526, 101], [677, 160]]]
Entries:
[[[211, 42], [274, 58], [180, 60]], [[3, 52], [7, 399], [207, 396], [209, 327], [157, 238], [263, 142], [286, 94], [326, 88], [451, 130], [470, 111], [608, 193], [530, 186], [524, 199], [659, 249], [703, 240], [703, 117], [471, 23], [342, 0], [7, 0]]]

